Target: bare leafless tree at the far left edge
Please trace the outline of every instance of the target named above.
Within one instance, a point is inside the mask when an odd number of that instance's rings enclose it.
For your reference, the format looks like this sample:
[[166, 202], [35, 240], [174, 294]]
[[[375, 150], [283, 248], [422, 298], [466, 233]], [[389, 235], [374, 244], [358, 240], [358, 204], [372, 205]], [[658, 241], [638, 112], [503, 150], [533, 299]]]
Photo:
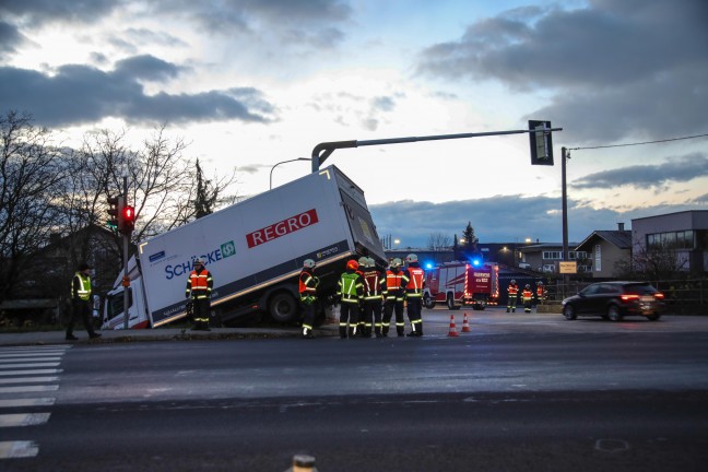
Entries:
[[0, 117], [0, 298], [17, 295], [28, 256], [49, 241], [61, 219], [61, 152], [27, 114]]

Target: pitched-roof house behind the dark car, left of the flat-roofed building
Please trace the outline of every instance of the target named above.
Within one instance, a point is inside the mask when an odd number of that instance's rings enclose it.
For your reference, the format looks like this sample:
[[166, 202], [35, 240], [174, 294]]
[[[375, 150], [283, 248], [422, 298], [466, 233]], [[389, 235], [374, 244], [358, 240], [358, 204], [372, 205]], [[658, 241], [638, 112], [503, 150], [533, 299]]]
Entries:
[[594, 279], [615, 276], [618, 262], [632, 259], [632, 232], [617, 223], [616, 231], [595, 231], [575, 248], [588, 255], [587, 272]]

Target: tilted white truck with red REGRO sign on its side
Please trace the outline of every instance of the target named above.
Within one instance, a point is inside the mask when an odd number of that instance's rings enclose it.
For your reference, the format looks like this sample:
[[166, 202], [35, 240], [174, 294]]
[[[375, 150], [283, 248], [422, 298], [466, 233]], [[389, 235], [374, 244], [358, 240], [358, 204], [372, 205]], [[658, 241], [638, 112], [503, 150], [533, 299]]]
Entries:
[[[346, 261], [359, 256], [386, 264], [363, 190], [329, 166], [141, 244], [129, 264], [128, 327], [185, 317], [187, 278], [198, 257], [214, 279], [212, 315], [229, 324], [263, 312], [297, 321], [303, 261], [317, 263], [324, 303]], [[104, 329], [125, 327], [121, 281], [122, 271], [106, 297]]]

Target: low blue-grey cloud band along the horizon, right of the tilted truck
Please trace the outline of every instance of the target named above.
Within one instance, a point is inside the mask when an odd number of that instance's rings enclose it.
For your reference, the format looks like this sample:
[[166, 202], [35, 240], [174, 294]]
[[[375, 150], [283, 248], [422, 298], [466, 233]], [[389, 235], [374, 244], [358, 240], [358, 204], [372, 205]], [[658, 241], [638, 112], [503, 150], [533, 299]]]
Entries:
[[[472, 223], [482, 243], [523, 241], [527, 237], [543, 243], [563, 241], [560, 199], [547, 197], [521, 198], [497, 196], [487, 199], [445, 203], [398, 201], [369, 205], [380, 237], [391, 235], [401, 239], [402, 247], [425, 247], [435, 233], [460, 237]], [[593, 209], [583, 202], [568, 200], [568, 240], [581, 243], [598, 229], [616, 229], [617, 223], [629, 228], [633, 219], [708, 209], [708, 196], [703, 201], [682, 205], [660, 205], [617, 212]]]

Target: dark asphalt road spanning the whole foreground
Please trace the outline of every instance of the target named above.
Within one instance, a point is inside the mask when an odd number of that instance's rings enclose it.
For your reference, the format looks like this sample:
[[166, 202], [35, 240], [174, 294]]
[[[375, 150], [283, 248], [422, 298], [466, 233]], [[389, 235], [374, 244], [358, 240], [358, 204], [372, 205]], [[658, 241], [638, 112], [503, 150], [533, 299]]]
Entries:
[[37, 448], [0, 470], [284, 471], [299, 452], [344, 472], [705, 469], [708, 320], [470, 318], [457, 338], [436, 310], [423, 339], [64, 346], [57, 390], [0, 389], [56, 399], [2, 410], [50, 416], [0, 427]]

